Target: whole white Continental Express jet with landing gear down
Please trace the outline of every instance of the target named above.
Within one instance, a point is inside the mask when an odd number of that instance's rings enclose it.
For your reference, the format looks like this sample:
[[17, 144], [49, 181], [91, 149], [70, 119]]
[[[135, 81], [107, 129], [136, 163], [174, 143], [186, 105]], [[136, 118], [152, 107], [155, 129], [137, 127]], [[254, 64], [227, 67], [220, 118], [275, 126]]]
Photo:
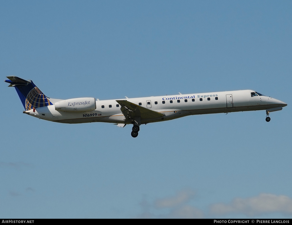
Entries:
[[46, 97], [31, 80], [7, 76], [8, 87], [15, 87], [25, 108], [23, 113], [58, 123], [115, 123], [118, 127], [132, 124], [132, 137], [137, 137], [141, 124], [167, 121], [183, 116], [266, 110], [282, 110], [287, 104], [254, 90], [236, 90], [197, 94], [164, 95], [113, 100], [93, 97], [67, 100]]

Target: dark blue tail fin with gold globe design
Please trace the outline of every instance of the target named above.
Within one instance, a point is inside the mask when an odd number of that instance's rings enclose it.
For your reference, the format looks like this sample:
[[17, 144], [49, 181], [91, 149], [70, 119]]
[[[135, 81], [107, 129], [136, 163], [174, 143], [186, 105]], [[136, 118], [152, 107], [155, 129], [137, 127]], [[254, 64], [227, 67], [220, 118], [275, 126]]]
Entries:
[[10, 83], [8, 87], [15, 87], [25, 110], [52, 105], [49, 98], [32, 81], [26, 81], [17, 76], [8, 76], [7, 78], [9, 80], [5, 80], [5, 82]]

